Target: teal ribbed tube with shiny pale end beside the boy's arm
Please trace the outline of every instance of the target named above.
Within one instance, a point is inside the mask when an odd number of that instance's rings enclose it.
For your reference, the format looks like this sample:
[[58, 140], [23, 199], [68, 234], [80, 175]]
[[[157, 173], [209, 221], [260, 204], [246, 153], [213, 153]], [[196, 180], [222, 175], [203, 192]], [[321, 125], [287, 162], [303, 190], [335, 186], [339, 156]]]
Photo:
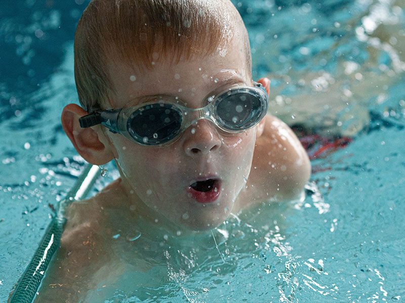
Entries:
[[34, 299], [52, 256], [59, 248], [66, 223], [66, 207], [73, 201], [86, 197], [94, 182], [100, 176], [99, 170], [98, 166], [89, 164], [79, 175], [65, 199], [60, 201], [57, 213], [45, 231], [41, 244], [36, 249], [31, 262], [25, 269], [11, 296], [11, 303], [31, 303]]

